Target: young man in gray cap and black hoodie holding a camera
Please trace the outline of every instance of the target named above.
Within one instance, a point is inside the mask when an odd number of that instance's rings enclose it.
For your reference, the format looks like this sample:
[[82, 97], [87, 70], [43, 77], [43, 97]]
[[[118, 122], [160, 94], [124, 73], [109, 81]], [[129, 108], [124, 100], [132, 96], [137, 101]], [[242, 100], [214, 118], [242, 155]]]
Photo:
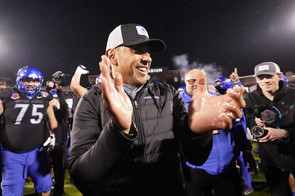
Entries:
[[261, 126], [267, 132], [258, 141], [271, 196], [289, 196], [289, 173], [295, 173], [295, 89], [281, 81], [276, 63], [260, 63], [254, 73], [257, 89], [245, 97], [247, 125], [250, 129]]

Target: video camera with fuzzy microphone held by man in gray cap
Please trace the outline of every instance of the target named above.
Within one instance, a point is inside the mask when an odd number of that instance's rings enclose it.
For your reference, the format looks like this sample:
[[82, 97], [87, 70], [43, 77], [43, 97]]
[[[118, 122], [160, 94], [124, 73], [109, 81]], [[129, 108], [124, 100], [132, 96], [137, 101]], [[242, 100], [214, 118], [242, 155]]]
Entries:
[[[275, 129], [280, 129], [278, 126], [281, 120], [280, 111], [273, 106], [267, 105], [255, 105], [252, 107], [246, 107], [249, 113], [254, 114], [257, 118], [261, 118], [265, 121], [266, 127], [272, 127]], [[259, 138], [263, 138], [267, 135], [268, 131], [263, 129], [261, 126], [253, 126], [251, 128], [252, 140], [261, 142]]]

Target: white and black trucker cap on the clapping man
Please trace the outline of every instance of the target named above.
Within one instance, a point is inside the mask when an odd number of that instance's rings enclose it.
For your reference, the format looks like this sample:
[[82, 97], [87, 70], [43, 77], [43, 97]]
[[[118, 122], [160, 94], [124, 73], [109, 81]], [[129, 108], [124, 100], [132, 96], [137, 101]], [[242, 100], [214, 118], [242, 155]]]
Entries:
[[148, 32], [138, 24], [126, 24], [116, 27], [108, 36], [107, 48], [114, 49], [118, 46], [132, 46], [147, 43], [151, 52], [161, 52], [166, 45], [162, 40], [149, 39]]

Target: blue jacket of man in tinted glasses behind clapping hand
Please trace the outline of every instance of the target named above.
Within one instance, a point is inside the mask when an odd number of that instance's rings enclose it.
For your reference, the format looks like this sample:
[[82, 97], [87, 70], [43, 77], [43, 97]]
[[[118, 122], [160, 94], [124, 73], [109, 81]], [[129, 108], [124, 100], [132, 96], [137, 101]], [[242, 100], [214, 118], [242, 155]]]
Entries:
[[[208, 90], [211, 95], [219, 95]], [[191, 95], [184, 89], [181, 95], [185, 106], [191, 100]], [[227, 171], [227, 169], [235, 166], [235, 161], [240, 155], [240, 151], [251, 150], [252, 145], [246, 138], [246, 119], [243, 117], [233, 121], [231, 130], [214, 130], [213, 131], [213, 147], [206, 162], [201, 166], [195, 166], [186, 162], [187, 166], [195, 169], [204, 169], [207, 173], [218, 175]]]

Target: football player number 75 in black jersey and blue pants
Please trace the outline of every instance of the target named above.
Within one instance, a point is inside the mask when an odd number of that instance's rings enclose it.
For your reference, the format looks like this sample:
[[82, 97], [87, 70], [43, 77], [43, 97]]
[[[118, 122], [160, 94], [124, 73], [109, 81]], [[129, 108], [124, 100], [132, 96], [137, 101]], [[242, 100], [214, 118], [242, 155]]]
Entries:
[[36, 67], [21, 68], [16, 82], [17, 87], [0, 89], [0, 116], [5, 119], [0, 128], [2, 195], [23, 195], [29, 175], [37, 194], [48, 196], [52, 181], [47, 152], [55, 145], [57, 130], [52, 94], [41, 90], [43, 77]]

